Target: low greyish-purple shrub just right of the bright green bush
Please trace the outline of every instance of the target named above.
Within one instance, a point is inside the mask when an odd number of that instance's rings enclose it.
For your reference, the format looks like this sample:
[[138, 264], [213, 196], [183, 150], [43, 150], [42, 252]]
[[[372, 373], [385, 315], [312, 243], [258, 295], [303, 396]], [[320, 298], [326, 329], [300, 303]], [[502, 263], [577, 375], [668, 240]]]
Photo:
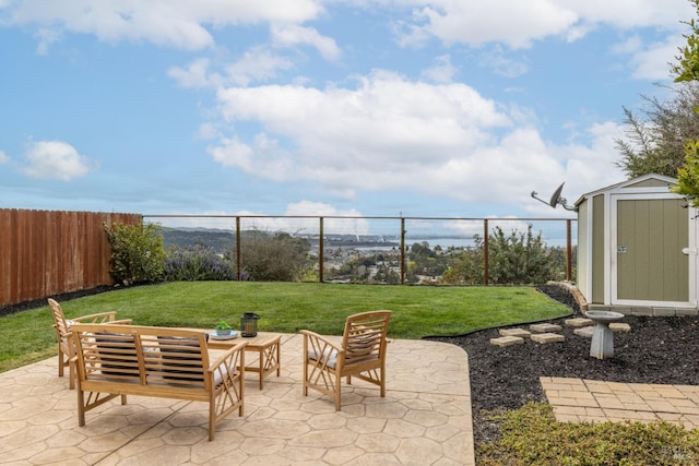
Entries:
[[168, 282], [230, 280], [236, 278], [235, 264], [220, 256], [208, 246], [188, 248], [173, 246], [164, 265]]

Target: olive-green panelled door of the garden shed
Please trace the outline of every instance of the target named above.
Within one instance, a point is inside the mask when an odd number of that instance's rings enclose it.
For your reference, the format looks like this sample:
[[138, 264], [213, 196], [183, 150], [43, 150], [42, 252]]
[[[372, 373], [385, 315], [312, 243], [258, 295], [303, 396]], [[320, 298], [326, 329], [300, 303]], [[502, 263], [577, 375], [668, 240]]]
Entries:
[[679, 199], [618, 200], [616, 297], [628, 301], [689, 300], [688, 210]]

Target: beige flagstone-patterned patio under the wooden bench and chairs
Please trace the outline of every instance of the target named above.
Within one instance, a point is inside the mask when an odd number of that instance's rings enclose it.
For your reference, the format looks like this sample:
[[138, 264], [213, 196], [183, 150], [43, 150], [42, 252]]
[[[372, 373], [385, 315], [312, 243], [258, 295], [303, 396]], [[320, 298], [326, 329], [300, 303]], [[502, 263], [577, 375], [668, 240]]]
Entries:
[[[0, 373], [0, 463], [16, 465], [475, 465], [466, 354], [392, 340], [387, 396], [363, 381], [331, 398], [301, 393], [300, 335], [283, 335], [282, 375], [246, 378], [245, 415], [208, 440], [203, 403], [130, 396], [86, 415], [57, 358]], [[246, 355], [247, 356], [247, 355]]]

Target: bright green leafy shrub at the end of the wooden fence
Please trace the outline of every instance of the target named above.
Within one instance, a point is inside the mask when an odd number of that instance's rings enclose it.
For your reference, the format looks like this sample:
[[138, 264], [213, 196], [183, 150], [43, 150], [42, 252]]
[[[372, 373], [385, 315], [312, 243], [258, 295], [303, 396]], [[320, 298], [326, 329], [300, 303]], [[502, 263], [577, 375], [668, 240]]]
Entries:
[[154, 224], [105, 224], [111, 246], [110, 274], [122, 285], [163, 279], [165, 250]]

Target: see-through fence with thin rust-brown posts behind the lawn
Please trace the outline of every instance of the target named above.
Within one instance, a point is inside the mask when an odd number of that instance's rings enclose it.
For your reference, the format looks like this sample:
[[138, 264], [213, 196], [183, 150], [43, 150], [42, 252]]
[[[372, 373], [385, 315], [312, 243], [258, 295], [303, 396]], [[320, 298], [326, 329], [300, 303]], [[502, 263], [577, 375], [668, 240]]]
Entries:
[[306, 261], [306, 272], [296, 271], [297, 279], [339, 282], [353, 274], [378, 274], [382, 282], [377, 283], [400, 284], [408, 277], [407, 283], [415, 283], [411, 256], [416, 249], [429, 250], [439, 262], [479, 247], [485, 251], [482, 282], [487, 285], [489, 236], [498, 228], [505, 235], [525, 235], [531, 226], [546, 248], [560, 252], [560, 278], [574, 279], [572, 218], [144, 215], [143, 219], [159, 225], [166, 248], [200, 244], [233, 261], [237, 279], [259, 273], [260, 261], [284, 262], [296, 252]]

